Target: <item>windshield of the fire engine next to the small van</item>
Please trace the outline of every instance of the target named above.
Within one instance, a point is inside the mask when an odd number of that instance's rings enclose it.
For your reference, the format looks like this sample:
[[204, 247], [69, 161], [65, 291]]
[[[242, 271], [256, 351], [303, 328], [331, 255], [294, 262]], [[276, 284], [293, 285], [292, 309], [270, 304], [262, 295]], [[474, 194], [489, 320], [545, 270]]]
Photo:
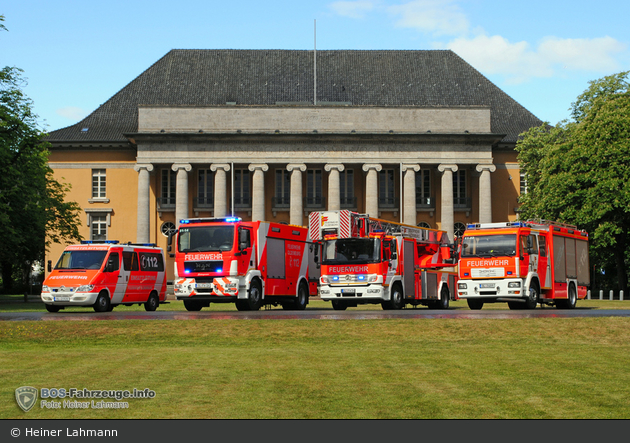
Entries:
[[230, 251], [234, 245], [234, 226], [180, 226], [179, 252]]

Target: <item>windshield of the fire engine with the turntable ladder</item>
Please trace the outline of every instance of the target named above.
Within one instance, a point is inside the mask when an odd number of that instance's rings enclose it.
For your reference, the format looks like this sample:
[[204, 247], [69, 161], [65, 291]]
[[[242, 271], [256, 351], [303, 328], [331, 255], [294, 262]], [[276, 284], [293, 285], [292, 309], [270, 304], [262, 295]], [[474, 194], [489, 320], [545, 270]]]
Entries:
[[344, 238], [324, 242], [322, 263], [375, 263], [381, 261], [381, 241], [375, 238]]

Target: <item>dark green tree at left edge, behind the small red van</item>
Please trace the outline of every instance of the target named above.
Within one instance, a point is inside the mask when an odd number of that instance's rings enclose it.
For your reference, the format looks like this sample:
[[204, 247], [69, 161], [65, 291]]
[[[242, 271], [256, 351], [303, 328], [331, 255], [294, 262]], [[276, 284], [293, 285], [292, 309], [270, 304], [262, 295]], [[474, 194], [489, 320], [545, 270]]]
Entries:
[[25, 283], [53, 242], [81, 239], [80, 207], [65, 201], [69, 186], [48, 166], [50, 144], [38, 129], [24, 84], [20, 69], [0, 70], [0, 271], [8, 292], [16, 277]]

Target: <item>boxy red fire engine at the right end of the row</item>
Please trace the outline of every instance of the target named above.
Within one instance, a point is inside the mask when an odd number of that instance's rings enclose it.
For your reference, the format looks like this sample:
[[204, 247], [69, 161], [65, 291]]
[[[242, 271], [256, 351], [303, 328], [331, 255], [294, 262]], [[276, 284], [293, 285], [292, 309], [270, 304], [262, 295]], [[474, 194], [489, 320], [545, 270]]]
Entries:
[[572, 309], [590, 284], [588, 234], [548, 221], [468, 225], [459, 260], [460, 299], [470, 309], [507, 302]]

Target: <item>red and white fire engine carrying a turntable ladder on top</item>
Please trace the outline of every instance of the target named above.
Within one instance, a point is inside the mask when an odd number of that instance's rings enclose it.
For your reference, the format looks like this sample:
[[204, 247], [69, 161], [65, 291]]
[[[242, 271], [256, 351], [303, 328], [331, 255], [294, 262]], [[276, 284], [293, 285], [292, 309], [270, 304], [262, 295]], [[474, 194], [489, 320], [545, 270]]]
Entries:
[[309, 236], [321, 244], [319, 295], [336, 310], [369, 303], [447, 309], [457, 299], [445, 231], [341, 210], [312, 212]]

